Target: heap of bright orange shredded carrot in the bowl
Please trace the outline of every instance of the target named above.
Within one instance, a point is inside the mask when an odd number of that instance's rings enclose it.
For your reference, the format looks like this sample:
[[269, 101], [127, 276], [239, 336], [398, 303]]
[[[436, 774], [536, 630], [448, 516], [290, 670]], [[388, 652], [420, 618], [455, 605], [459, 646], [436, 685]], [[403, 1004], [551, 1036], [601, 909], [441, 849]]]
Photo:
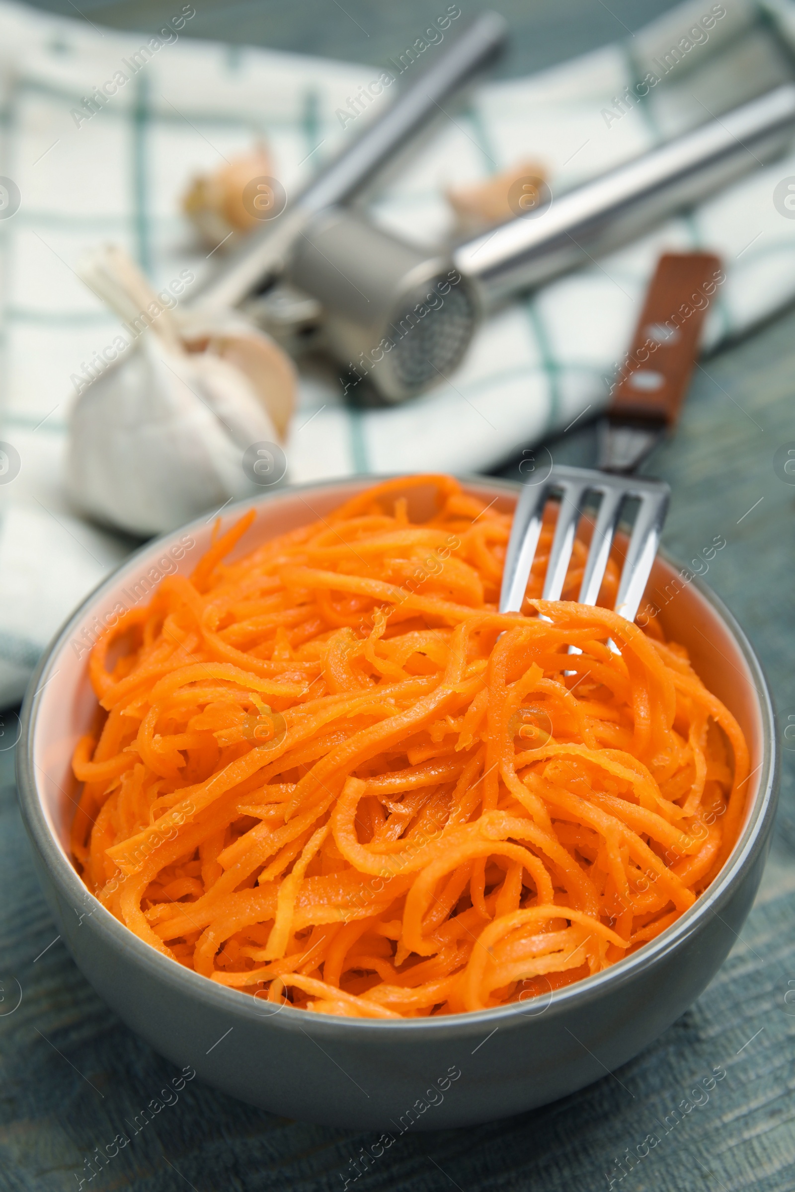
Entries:
[[137, 936], [261, 1000], [411, 1018], [598, 973], [713, 881], [743, 733], [659, 629], [576, 603], [584, 542], [545, 602], [546, 523], [501, 615], [511, 516], [449, 477], [225, 561], [253, 520], [92, 652], [72, 849]]

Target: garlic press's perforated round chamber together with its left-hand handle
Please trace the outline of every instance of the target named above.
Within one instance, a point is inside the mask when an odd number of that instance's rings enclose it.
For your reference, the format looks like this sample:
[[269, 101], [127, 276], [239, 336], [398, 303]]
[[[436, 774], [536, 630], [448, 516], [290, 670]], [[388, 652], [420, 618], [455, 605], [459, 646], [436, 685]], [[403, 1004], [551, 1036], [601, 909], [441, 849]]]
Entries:
[[[502, 50], [505, 21], [484, 13], [384, 114], [267, 221], [197, 293], [200, 309], [248, 303], [254, 317], [294, 347], [315, 339], [342, 364], [373, 372], [398, 401], [455, 367], [477, 321], [470, 286], [448, 252], [426, 253], [375, 229], [349, 205], [443, 116], [443, 105]], [[280, 292], [257, 296], [281, 279]], [[451, 287], [451, 279], [456, 279]], [[291, 342], [292, 336], [292, 342]], [[367, 361], [367, 362], [365, 362]]]

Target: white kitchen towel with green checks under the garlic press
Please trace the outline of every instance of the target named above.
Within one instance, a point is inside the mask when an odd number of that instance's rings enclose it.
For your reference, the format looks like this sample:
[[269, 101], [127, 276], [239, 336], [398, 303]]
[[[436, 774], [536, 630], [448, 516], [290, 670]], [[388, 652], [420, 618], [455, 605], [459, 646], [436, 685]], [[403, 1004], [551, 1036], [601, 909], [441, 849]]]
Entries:
[[[200, 279], [215, 260], [180, 215], [190, 176], [263, 136], [294, 191], [358, 134], [368, 117], [346, 117], [348, 97], [383, 69], [192, 43], [191, 5], [172, 7], [150, 41], [0, 0], [0, 175], [20, 194], [17, 213], [0, 218], [0, 439], [21, 464], [0, 483], [0, 706], [20, 696], [58, 623], [132, 546], [81, 521], [62, 491], [70, 377], [118, 333], [75, 275], [79, 254], [112, 240], [157, 288], [185, 268]], [[440, 15], [454, 7], [440, 4]], [[415, 43], [420, 60], [440, 52], [434, 38]], [[560, 193], [791, 77], [794, 45], [794, 0], [695, 0], [621, 44], [483, 86], [373, 215], [437, 242], [449, 231], [442, 187], [521, 157], [544, 162]], [[396, 61], [399, 68], [399, 54]], [[83, 100], [110, 80], [114, 94], [86, 118]], [[386, 88], [378, 103], [389, 98]], [[709, 248], [727, 265], [710, 346], [764, 318], [795, 294], [795, 221], [774, 205], [788, 175], [795, 156], [516, 302], [480, 331], [449, 386], [405, 405], [348, 406], [331, 373], [306, 371], [287, 446], [291, 478], [483, 470], [596, 408], [663, 248]], [[14, 193], [0, 191], [0, 216]]]

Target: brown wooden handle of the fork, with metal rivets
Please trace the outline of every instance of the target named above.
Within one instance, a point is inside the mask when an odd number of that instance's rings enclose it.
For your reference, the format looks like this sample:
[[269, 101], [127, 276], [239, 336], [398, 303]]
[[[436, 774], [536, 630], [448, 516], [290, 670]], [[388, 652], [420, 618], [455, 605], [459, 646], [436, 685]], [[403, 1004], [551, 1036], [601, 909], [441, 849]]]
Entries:
[[682, 406], [704, 316], [725, 280], [712, 253], [665, 253], [648, 287], [608, 414], [672, 426]]

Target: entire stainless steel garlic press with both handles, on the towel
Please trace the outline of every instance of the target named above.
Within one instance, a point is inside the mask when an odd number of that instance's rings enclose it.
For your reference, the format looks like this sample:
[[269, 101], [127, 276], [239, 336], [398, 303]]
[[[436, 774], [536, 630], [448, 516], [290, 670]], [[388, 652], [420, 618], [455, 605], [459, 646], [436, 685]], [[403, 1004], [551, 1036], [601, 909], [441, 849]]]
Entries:
[[[353, 206], [505, 39], [480, 17], [281, 216], [246, 242], [195, 304], [247, 305], [282, 343], [304, 342], [387, 402], [445, 379], [478, 319], [513, 294], [627, 243], [781, 151], [795, 85], [744, 104], [452, 254], [375, 228]], [[275, 283], [279, 285], [275, 286]]]

